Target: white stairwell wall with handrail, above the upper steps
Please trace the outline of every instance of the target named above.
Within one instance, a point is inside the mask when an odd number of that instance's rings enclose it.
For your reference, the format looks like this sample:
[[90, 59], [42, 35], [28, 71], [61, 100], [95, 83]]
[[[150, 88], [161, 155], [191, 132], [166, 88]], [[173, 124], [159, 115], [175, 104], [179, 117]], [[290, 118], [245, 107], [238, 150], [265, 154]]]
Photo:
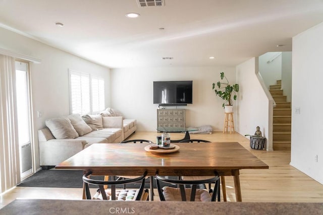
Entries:
[[[276, 85], [277, 80], [282, 79], [282, 52], [267, 52], [258, 57], [259, 59], [259, 73], [265, 83], [267, 89], [270, 85]], [[277, 56], [279, 55], [279, 56]], [[268, 60], [277, 56], [273, 61]]]

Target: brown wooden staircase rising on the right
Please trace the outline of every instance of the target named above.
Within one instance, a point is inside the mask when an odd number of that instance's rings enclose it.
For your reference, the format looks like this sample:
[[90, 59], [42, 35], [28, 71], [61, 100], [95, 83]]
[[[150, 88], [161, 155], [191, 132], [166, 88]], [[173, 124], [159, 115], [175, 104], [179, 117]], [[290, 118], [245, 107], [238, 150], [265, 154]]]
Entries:
[[273, 113], [273, 148], [274, 150], [291, 149], [292, 109], [283, 94], [282, 81], [270, 86], [270, 93], [276, 102]]

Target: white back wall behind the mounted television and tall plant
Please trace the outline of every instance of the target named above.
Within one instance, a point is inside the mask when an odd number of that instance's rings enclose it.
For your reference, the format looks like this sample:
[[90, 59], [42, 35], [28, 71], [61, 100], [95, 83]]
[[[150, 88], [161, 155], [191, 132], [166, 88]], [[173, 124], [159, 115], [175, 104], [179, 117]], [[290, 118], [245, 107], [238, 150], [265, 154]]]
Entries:
[[234, 67], [111, 69], [112, 108], [137, 119], [138, 130], [156, 131], [158, 105], [153, 104], [153, 81], [192, 80], [193, 104], [178, 106], [187, 110], [186, 126], [211, 125], [213, 130], [223, 130], [223, 100], [212, 91], [212, 83], [220, 80], [221, 71], [231, 83], [236, 83]]

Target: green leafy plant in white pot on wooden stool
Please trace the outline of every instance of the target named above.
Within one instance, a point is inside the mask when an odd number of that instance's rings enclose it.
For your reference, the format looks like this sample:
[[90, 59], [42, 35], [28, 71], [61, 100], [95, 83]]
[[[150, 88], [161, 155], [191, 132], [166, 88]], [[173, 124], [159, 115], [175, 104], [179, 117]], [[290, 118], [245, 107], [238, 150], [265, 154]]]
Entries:
[[[220, 77], [221, 77], [221, 81], [217, 83], [218, 88], [216, 88], [216, 83], [213, 83], [212, 90], [216, 93], [217, 96], [225, 100], [225, 102], [222, 104], [222, 106], [225, 108], [225, 112], [232, 113], [233, 112], [232, 99], [237, 100], [236, 93], [239, 92], [239, 85], [238, 84], [230, 85], [227, 77], [224, 75], [224, 72], [220, 73]], [[222, 82], [222, 80], [224, 82]]]

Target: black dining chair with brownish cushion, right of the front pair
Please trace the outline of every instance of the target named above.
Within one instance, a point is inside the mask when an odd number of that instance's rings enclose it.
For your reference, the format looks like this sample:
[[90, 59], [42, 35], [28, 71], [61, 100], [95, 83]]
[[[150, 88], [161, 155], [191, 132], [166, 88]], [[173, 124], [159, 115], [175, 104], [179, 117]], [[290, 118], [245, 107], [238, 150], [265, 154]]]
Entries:
[[[216, 201], [219, 192], [219, 175], [203, 180], [177, 180], [165, 178], [156, 174], [156, 184], [160, 201]], [[160, 182], [178, 185], [179, 187], [164, 186]], [[215, 183], [214, 190], [197, 188], [200, 184]], [[211, 195], [210, 195], [211, 193]]]

